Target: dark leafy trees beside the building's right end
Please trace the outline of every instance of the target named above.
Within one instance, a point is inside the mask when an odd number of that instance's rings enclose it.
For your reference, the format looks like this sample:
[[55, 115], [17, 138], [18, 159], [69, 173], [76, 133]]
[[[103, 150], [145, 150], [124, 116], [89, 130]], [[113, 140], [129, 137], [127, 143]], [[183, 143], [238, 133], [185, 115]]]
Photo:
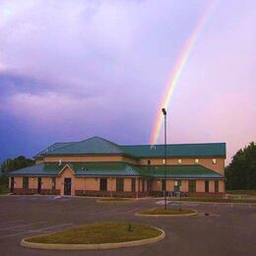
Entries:
[[256, 144], [239, 150], [225, 168], [227, 189], [256, 189]]

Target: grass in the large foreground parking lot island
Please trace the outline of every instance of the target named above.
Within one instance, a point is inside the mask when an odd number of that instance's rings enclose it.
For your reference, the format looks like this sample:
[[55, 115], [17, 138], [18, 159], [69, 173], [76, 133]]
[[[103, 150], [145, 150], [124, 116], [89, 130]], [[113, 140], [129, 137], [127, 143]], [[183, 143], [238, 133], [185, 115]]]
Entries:
[[85, 224], [77, 228], [28, 238], [27, 241], [54, 244], [99, 244], [141, 240], [160, 234], [160, 230], [147, 225], [107, 222]]

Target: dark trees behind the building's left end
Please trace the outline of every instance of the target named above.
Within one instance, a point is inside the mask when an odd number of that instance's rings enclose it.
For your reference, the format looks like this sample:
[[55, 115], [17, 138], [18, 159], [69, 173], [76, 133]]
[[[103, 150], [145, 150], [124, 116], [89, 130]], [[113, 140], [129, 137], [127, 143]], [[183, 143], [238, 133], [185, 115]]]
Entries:
[[15, 159], [4, 160], [0, 165], [0, 185], [8, 186], [8, 172], [34, 164], [34, 160], [20, 156]]

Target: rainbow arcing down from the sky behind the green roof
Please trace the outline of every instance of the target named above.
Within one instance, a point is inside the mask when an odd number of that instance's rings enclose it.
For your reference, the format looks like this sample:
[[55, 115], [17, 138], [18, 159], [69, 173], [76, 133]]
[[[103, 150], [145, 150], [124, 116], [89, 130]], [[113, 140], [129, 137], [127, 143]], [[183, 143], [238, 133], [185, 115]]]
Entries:
[[155, 118], [154, 126], [151, 133], [151, 140], [150, 144], [155, 145], [158, 142], [160, 136], [160, 129], [162, 126], [163, 116], [160, 111], [162, 107], [167, 108], [169, 105], [169, 101], [171, 96], [173, 96], [174, 90], [177, 86], [178, 80], [181, 76], [183, 68], [188, 60], [190, 52], [195, 45], [199, 33], [202, 31], [204, 25], [206, 24], [207, 19], [211, 16], [212, 12], [214, 11], [215, 7], [217, 6], [217, 1], [211, 1], [210, 4], [207, 6], [206, 10], [204, 11], [201, 19], [199, 20], [197, 26], [191, 33], [191, 36], [186, 41], [184, 47], [182, 48], [181, 54], [179, 55], [176, 65], [174, 66], [173, 70], [171, 71], [170, 78], [168, 80], [166, 89], [160, 101], [160, 106], [158, 107], [157, 116]]

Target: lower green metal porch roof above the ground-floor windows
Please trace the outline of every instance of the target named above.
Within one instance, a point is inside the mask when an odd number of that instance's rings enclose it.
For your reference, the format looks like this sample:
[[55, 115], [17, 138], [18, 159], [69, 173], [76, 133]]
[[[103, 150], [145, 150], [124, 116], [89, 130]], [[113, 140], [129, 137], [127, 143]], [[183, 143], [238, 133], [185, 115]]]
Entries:
[[[127, 162], [63, 162], [40, 163], [18, 169], [9, 173], [10, 176], [58, 176], [60, 170], [68, 164], [76, 176], [143, 176], [163, 178], [164, 165], [137, 166]], [[224, 178], [223, 175], [202, 165], [167, 165], [167, 178]]]

